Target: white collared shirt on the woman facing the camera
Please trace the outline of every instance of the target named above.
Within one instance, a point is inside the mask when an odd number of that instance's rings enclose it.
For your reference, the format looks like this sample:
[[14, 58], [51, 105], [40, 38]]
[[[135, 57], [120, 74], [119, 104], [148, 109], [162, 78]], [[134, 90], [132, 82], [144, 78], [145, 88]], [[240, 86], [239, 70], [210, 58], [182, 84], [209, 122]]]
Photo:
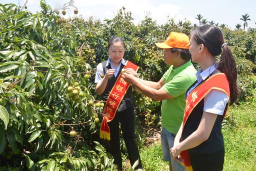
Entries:
[[[116, 77], [116, 75], [117, 75], [118, 72], [119, 72], [121, 63], [122, 63], [123, 65], [126, 65], [124, 59], [122, 58], [122, 59], [121, 59], [121, 62], [117, 65], [117, 67], [114, 67], [114, 66], [111, 64], [111, 60], [110, 60], [110, 56], [109, 56], [108, 59], [107, 59], [107, 61], [106, 61], [106, 66], [107, 66], [108, 64], [110, 64], [111, 68], [112, 68], [112, 69], [115, 69], [115, 70], [114, 70], [114, 76]], [[94, 83], [101, 82], [101, 80], [102, 80], [102, 78], [100, 77], [101, 74], [103, 74], [103, 66], [102, 66], [102, 63], [99, 63], [99, 64], [97, 65]]]

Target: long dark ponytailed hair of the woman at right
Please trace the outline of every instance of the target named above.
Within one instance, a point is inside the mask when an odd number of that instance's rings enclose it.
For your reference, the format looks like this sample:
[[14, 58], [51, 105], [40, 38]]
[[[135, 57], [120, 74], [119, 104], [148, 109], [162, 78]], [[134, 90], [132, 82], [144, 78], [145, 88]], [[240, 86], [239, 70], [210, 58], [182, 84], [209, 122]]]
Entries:
[[198, 26], [191, 31], [191, 38], [197, 44], [203, 44], [209, 53], [214, 56], [222, 51], [217, 69], [227, 77], [230, 90], [230, 105], [233, 104], [239, 93], [236, 63], [228, 45], [223, 44], [225, 42], [221, 30], [213, 25]]

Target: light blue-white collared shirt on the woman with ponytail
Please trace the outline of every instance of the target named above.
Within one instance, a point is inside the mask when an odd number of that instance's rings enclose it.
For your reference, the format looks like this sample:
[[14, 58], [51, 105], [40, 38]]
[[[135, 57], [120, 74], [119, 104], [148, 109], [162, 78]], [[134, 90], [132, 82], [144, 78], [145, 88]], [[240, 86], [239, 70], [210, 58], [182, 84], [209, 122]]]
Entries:
[[[216, 70], [216, 64], [212, 64], [207, 67], [205, 70], [201, 68], [195, 73], [196, 75], [196, 83], [189, 88], [186, 93], [186, 96], [205, 78], [207, 78], [213, 71]], [[222, 115], [225, 110], [226, 103], [228, 102], [228, 96], [220, 90], [212, 89], [208, 92], [208, 94], [204, 97], [203, 111], [220, 114]]]

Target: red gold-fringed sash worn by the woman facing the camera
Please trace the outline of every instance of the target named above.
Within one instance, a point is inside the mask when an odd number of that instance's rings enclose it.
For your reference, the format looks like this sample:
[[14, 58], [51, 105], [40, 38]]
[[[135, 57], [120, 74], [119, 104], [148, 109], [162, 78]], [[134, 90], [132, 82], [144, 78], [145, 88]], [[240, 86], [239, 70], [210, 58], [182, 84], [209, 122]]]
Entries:
[[[124, 65], [123, 68], [132, 68], [133, 70], [137, 71], [138, 66], [127, 60], [126, 65]], [[103, 110], [103, 119], [99, 129], [100, 138], [110, 140], [110, 130], [107, 122], [114, 118], [122, 98], [129, 88], [129, 85], [130, 83], [126, 82], [123, 77], [121, 77], [120, 73], [106, 100], [106, 104]]]

